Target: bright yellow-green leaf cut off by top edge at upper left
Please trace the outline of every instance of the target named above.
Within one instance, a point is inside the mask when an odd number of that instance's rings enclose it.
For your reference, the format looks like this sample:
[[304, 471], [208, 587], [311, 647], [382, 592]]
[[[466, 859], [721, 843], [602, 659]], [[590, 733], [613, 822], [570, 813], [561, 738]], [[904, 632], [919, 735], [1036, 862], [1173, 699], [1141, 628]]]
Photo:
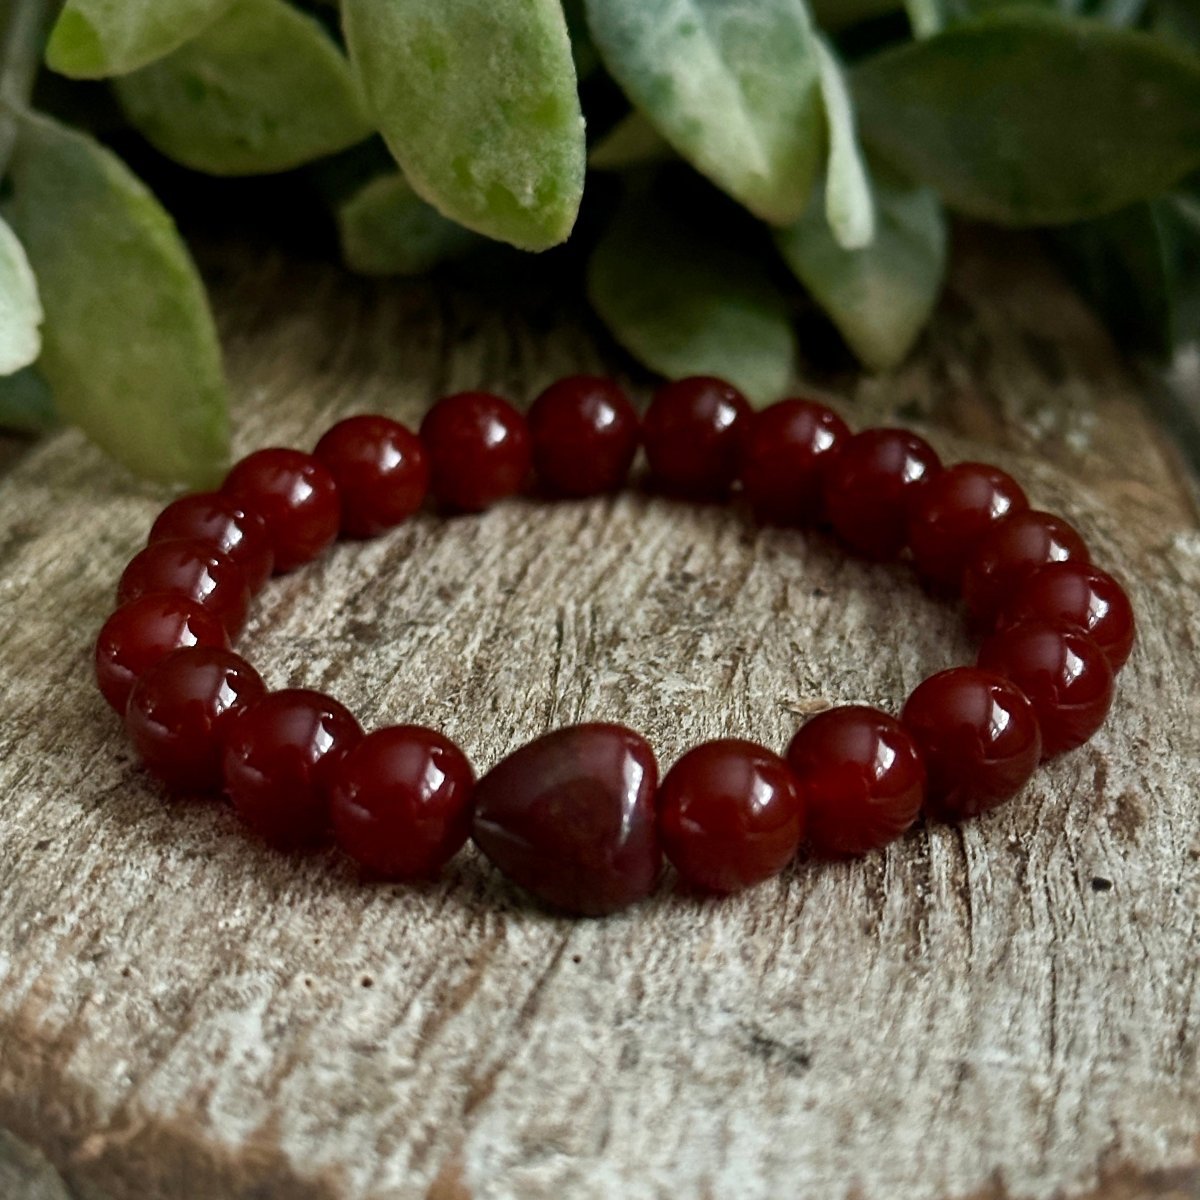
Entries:
[[76, 79], [124, 74], [194, 37], [230, 0], [67, 0], [46, 61]]

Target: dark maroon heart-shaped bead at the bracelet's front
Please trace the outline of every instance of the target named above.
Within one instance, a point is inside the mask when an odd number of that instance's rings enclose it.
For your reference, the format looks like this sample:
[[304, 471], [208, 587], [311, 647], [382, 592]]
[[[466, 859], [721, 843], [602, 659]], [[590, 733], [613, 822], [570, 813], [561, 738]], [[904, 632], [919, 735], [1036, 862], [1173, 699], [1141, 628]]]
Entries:
[[619, 725], [547, 733], [475, 785], [472, 835], [505, 875], [566, 912], [598, 917], [649, 895], [661, 852], [654, 751]]

